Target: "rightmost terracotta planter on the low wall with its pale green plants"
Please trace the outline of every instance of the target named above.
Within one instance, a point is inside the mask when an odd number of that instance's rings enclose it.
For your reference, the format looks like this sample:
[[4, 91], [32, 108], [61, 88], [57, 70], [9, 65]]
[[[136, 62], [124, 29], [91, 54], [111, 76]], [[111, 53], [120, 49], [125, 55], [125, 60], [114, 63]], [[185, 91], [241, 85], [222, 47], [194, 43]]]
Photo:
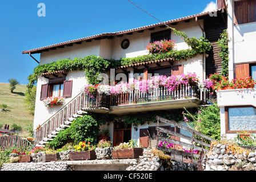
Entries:
[[112, 151], [113, 159], [133, 159], [143, 155], [143, 148], [137, 147], [137, 143], [133, 139], [129, 143], [124, 142], [114, 147]]

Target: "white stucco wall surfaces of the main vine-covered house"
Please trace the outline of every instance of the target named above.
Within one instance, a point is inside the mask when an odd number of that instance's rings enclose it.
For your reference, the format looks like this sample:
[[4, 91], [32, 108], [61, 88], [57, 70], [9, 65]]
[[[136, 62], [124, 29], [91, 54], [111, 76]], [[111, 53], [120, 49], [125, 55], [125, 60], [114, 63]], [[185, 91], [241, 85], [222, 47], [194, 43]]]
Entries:
[[[199, 20], [199, 23], [203, 26], [203, 21]], [[177, 25], [172, 26], [179, 31], [186, 32], [190, 37], [195, 36], [199, 38], [202, 36], [202, 31], [198, 24], [192, 19], [190, 22], [179, 22]], [[133, 35], [124, 34], [122, 37], [114, 36], [113, 39], [92, 40], [91, 42], [83, 41], [82, 44], [73, 44], [73, 46], [65, 46], [64, 48], [57, 48], [41, 53], [40, 64], [46, 64], [61, 59], [74, 59], [75, 57], [85, 57], [87, 55], [101, 56], [103, 59], [120, 59], [121, 57], [135, 57], [139, 55], [147, 54], [146, 46], [150, 40], [151, 32], [157, 32], [165, 30], [165, 28], [156, 27], [155, 30], [145, 30], [142, 33], [134, 32]], [[124, 39], [130, 40], [130, 46], [127, 49], [121, 48], [121, 42]], [[171, 31], [171, 40], [175, 40], [175, 49], [189, 48], [181, 38], [174, 35]], [[187, 61], [175, 61], [174, 64], [184, 64], [184, 73], [196, 72], [202, 81], [204, 77], [203, 70], [203, 55], [198, 55], [193, 59]], [[84, 71], [68, 72], [66, 80], [73, 80], [72, 98], [77, 96], [81, 92], [81, 88], [86, 83]], [[41, 125], [47, 119], [51, 117], [62, 106], [54, 106], [51, 108], [45, 107], [43, 102], [40, 101], [41, 85], [46, 84], [49, 80], [39, 76], [37, 82], [37, 100], [35, 103], [35, 116], [34, 127]], [[66, 103], [72, 98], [66, 98]], [[113, 131], [111, 131], [113, 133]]]

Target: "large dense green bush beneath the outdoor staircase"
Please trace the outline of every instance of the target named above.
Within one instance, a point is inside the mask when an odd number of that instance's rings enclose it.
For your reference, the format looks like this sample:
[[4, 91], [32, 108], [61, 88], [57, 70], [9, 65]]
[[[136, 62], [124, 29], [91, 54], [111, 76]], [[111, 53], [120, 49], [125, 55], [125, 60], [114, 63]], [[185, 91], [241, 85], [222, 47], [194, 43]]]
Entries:
[[74, 144], [79, 142], [90, 142], [96, 144], [96, 138], [99, 135], [99, 123], [91, 115], [83, 115], [75, 119], [66, 130], [62, 130], [58, 133], [51, 142], [49, 147], [61, 148], [69, 140], [74, 140]]

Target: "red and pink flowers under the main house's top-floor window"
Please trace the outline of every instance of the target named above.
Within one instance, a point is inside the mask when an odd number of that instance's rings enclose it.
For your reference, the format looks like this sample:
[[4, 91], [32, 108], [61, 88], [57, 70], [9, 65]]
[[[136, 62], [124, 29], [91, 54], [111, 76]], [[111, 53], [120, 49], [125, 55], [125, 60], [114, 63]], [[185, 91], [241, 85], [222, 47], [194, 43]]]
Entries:
[[150, 53], [161, 53], [164, 51], [169, 51], [174, 47], [174, 40], [160, 40], [153, 43], [149, 43], [149, 46], [146, 46], [147, 50]]

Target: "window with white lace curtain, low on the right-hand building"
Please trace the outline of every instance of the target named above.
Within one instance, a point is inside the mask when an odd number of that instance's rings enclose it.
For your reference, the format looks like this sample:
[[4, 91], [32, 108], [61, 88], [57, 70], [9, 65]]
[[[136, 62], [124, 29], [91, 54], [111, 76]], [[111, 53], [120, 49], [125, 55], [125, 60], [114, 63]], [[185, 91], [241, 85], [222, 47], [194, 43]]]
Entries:
[[226, 131], [256, 131], [256, 108], [253, 106], [225, 107]]

